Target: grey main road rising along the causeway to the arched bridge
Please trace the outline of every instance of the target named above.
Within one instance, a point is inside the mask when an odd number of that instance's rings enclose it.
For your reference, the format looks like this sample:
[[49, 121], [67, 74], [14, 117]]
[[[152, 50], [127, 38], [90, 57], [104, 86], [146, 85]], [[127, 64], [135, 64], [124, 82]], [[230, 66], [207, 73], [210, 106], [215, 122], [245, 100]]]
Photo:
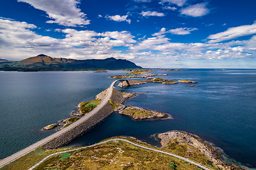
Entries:
[[80, 120], [76, 121], [75, 123], [69, 125], [67, 128], [63, 128], [62, 130], [55, 132], [53, 135], [50, 135], [46, 138], [44, 138], [43, 140], [40, 140], [36, 143], [34, 143], [33, 145], [30, 145], [29, 147], [26, 147], [25, 149], [22, 149], [19, 152], [16, 152], [16, 154], [12, 154], [10, 157], [6, 157], [4, 159], [1, 159], [0, 161], [0, 168], [5, 166], [6, 164], [9, 164], [13, 161], [15, 161], [16, 159], [22, 157], [25, 154], [28, 154], [29, 152], [33, 151], [34, 149], [41, 147], [42, 145], [45, 145], [47, 142], [50, 142], [50, 140], [55, 139], [56, 137], [63, 135], [65, 132], [68, 132], [69, 130], [72, 130], [73, 128], [77, 127], [78, 125], [80, 125], [81, 123], [83, 123], [85, 120], [90, 119], [90, 117], [92, 115], [95, 115], [98, 111], [100, 111], [100, 109], [105, 106], [105, 104], [110, 100], [110, 97], [112, 95], [113, 92], [113, 87], [114, 84], [119, 81], [113, 81], [112, 84], [110, 85], [110, 88], [107, 90], [107, 96], [106, 98], [92, 111], [90, 111], [90, 113], [87, 113], [86, 115], [82, 116], [82, 118], [80, 118]]

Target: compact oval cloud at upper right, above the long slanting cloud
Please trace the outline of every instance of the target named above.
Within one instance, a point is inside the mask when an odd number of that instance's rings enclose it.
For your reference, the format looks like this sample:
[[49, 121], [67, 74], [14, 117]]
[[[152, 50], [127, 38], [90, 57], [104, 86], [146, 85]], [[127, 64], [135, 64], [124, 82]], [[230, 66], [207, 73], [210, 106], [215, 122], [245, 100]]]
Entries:
[[196, 4], [193, 6], [188, 6], [187, 8], [181, 9], [181, 14], [186, 16], [205, 16], [209, 13], [208, 8], [206, 8], [206, 3]]

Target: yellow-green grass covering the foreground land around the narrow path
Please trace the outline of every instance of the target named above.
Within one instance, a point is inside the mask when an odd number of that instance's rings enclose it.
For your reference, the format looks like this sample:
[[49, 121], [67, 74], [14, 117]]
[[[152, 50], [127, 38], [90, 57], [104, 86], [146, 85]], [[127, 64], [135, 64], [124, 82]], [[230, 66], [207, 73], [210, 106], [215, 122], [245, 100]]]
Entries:
[[[176, 152], [177, 146], [174, 150], [169, 147], [158, 148], [140, 142], [135, 138], [127, 137], [112, 137], [122, 138], [131, 142], [137, 143], [144, 147], [160, 149], [168, 152]], [[108, 139], [106, 139], [108, 140]], [[178, 144], [177, 144], [178, 145]], [[26, 154], [24, 157], [17, 159], [15, 162], [4, 166], [4, 170], [9, 169], [29, 169], [31, 166], [41, 161], [44, 157], [55, 152], [60, 152], [70, 148], [61, 148], [53, 150], [43, 150], [41, 148]], [[178, 152], [179, 154], [186, 155], [186, 147]], [[178, 154], [175, 153], [175, 154]], [[198, 154], [200, 156], [201, 154]], [[191, 158], [190, 158], [191, 159]], [[198, 159], [204, 159], [204, 157], [198, 157]], [[213, 166], [208, 166], [215, 169]], [[177, 169], [177, 170], [198, 170], [198, 167], [177, 159], [166, 154], [159, 152], [152, 152], [140, 147], [135, 147], [127, 142], [107, 142], [103, 145], [90, 147], [86, 149], [79, 149], [75, 152], [69, 152], [65, 154], [58, 154], [46, 162], [43, 162], [36, 169]]]

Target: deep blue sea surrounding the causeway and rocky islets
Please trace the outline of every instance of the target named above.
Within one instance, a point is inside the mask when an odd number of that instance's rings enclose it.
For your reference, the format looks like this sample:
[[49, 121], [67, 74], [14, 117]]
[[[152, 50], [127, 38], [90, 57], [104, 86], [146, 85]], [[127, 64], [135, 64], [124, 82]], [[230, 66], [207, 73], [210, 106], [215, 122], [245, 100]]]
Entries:
[[[0, 72], [0, 159], [57, 131], [41, 130], [71, 117], [78, 103], [90, 101], [124, 71]], [[183, 69], [156, 77], [198, 84], [149, 83], [116, 89], [138, 93], [125, 101], [169, 113], [173, 119], [132, 120], [112, 113], [66, 146], [85, 146], [108, 137], [132, 136], [159, 145], [155, 134], [183, 130], [223, 149], [236, 164], [256, 168], [256, 69]], [[169, 74], [169, 75], [160, 75]]]

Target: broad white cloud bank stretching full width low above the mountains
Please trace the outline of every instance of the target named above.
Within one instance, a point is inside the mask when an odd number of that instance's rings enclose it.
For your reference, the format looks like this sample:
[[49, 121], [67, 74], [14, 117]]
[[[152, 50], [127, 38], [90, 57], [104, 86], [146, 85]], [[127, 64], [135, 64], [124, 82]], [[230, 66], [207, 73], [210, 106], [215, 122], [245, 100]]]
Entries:
[[[180, 43], [172, 42], [164, 36], [170, 31], [166, 28], [161, 28], [159, 33], [155, 33], [155, 37], [140, 35], [143, 38], [138, 41], [128, 31], [97, 33], [93, 30], [58, 29], [55, 31], [65, 33], [65, 38], [57, 39], [37, 35], [34, 32], [36, 29], [38, 28], [33, 24], [1, 18], [0, 58], [21, 60], [44, 53], [53, 57], [75, 59], [116, 57], [132, 60], [144, 67], [174, 67], [177, 61], [183, 63], [193, 60], [196, 63], [200, 59], [210, 63], [208, 60], [236, 58], [253, 61], [256, 56], [256, 35], [250, 40], [225, 43]], [[183, 28], [186, 29], [194, 28]], [[127, 50], [113, 49], [118, 46], [127, 47]]]

